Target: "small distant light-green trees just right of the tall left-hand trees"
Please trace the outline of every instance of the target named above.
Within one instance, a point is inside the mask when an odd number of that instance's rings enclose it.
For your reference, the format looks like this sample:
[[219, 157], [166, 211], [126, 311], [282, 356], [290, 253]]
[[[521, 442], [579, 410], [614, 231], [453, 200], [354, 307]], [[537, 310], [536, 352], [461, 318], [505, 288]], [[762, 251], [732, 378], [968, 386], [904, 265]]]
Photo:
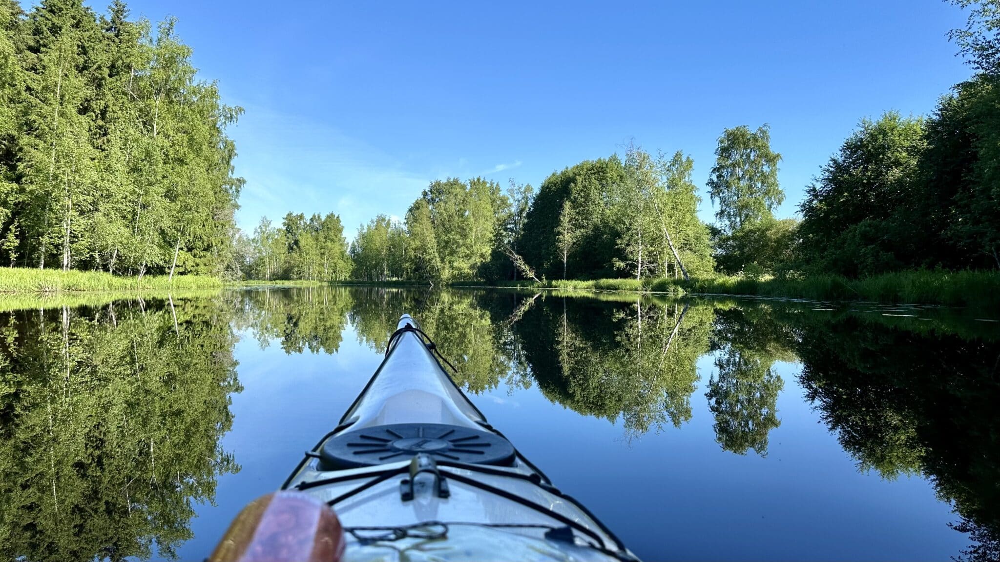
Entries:
[[340, 216], [288, 213], [281, 226], [260, 220], [253, 237], [241, 236], [239, 255], [247, 279], [308, 279], [342, 281], [353, 264], [347, 253], [344, 225]]

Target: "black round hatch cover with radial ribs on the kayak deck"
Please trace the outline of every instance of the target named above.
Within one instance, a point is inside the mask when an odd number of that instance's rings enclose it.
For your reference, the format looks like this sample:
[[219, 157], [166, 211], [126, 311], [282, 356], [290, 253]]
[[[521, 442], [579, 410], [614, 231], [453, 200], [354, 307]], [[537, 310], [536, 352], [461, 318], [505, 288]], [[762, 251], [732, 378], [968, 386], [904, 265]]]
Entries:
[[320, 470], [372, 466], [425, 453], [436, 460], [510, 464], [514, 446], [471, 427], [437, 423], [397, 423], [348, 431], [331, 437], [320, 451]]

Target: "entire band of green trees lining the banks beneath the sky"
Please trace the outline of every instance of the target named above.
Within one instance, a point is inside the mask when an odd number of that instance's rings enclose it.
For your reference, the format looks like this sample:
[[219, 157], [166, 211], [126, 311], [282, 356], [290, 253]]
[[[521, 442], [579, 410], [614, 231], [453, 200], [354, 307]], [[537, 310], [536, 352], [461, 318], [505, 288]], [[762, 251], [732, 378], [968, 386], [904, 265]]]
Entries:
[[0, 0], [0, 263], [140, 280], [633, 279], [710, 292], [732, 287], [720, 279], [996, 272], [1000, 7], [952, 3], [968, 11], [950, 39], [971, 77], [930, 115], [861, 119], [796, 218], [775, 216], [782, 156], [763, 124], [722, 131], [704, 180], [685, 152], [631, 143], [537, 188], [437, 179], [402, 219], [356, 232], [334, 213], [288, 213], [244, 233], [226, 133], [242, 109], [198, 77], [172, 20], [130, 19], [121, 0], [105, 14], [81, 0], [27, 11]]

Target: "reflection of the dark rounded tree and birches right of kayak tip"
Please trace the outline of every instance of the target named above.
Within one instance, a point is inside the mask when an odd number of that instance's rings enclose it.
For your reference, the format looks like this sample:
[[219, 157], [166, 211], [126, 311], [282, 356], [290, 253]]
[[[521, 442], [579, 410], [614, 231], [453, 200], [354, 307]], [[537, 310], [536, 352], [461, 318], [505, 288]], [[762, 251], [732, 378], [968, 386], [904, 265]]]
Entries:
[[546, 299], [514, 325], [529, 372], [553, 401], [622, 420], [629, 438], [691, 419], [711, 307]]

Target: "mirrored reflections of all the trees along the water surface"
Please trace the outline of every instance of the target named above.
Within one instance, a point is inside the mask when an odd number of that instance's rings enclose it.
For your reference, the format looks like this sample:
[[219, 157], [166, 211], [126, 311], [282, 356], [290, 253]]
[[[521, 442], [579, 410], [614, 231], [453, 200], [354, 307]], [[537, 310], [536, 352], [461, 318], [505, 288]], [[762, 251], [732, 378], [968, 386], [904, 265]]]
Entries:
[[0, 313], [0, 555], [170, 556], [193, 505], [239, 470], [219, 446], [241, 390], [246, 333], [289, 354], [338, 352], [353, 331], [384, 352], [413, 314], [473, 393], [537, 386], [627, 439], [692, 419], [766, 455], [785, 381], [798, 382], [861, 470], [919, 474], [952, 503], [963, 556], [1000, 559], [1000, 337], [969, 322], [818, 314], [765, 301], [480, 290], [320, 287]]

